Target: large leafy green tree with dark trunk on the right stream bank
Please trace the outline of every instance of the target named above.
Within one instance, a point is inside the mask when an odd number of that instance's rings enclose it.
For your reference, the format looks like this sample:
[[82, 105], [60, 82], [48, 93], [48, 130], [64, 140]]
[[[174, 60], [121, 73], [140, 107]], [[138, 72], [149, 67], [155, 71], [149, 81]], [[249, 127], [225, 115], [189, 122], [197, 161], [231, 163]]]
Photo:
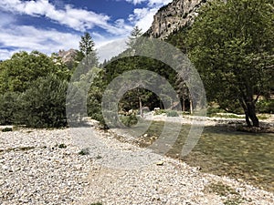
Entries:
[[187, 36], [207, 98], [224, 109], [240, 106], [255, 127], [256, 96], [269, 93], [274, 80], [273, 22], [268, 1], [213, 1], [201, 9]]

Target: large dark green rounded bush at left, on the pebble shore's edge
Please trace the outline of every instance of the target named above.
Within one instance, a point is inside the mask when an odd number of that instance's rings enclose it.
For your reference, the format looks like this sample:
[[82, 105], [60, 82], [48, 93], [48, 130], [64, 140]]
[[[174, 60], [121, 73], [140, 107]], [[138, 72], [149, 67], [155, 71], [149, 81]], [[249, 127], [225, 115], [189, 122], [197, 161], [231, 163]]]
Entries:
[[54, 75], [39, 77], [21, 95], [16, 123], [32, 128], [60, 128], [67, 126], [67, 81]]

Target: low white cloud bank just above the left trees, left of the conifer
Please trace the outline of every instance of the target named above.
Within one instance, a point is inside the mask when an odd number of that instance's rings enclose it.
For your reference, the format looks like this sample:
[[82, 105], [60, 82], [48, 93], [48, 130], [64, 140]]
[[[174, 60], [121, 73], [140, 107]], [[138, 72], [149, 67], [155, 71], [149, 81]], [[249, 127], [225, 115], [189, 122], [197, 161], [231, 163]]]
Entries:
[[[34, 26], [15, 26], [0, 31], [0, 59], [6, 59], [20, 50], [40, 52], [50, 55], [59, 49], [77, 48], [79, 36], [56, 30], [42, 30]], [[16, 48], [15, 50], [7, 49]]]

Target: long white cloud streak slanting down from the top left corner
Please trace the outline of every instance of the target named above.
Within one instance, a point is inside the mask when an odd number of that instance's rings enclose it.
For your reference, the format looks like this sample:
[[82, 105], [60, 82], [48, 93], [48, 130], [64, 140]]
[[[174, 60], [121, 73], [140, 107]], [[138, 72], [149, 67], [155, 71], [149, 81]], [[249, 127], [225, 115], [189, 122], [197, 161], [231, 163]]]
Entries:
[[20, 0], [2, 0], [0, 8], [5, 11], [33, 15], [46, 16], [48, 19], [57, 22], [58, 24], [71, 27], [78, 31], [86, 31], [94, 26], [99, 26], [105, 29], [112, 35], [126, 34], [132, 29], [131, 26], [114, 25], [108, 22], [110, 16], [96, 14], [92, 11], [78, 9], [72, 5], [65, 5], [63, 10], [57, 9], [48, 0], [37, 1], [20, 1]]

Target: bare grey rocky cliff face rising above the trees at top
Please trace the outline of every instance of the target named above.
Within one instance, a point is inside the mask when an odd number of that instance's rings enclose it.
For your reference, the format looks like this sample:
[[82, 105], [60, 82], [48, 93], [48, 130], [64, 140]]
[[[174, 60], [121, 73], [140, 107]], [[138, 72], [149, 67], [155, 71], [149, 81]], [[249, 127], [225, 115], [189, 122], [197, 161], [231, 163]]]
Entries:
[[194, 22], [197, 10], [207, 0], [174, 0], [163, 6], [154, 15], [153, 25], [146, 32], [147, 36], [164, 39], [174, 31]]

